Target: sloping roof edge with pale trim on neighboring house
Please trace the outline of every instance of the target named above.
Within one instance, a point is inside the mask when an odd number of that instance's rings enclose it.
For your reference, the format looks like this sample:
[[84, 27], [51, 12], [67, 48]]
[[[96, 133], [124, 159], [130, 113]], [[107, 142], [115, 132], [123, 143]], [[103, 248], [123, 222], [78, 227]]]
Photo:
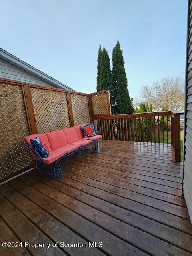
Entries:
[[44, 72], [38, 70], [37, 68], [34, 68], [30, 64], [24, 62], [23, 60], [20, 60], [16, 56], [10, 54], [9, 52], [0, 49], [1, 52], [1, 59], [5, 60], [6, 62], [9, 62], [10, 64], [24, 70], [25, 72], [28, 72], [29, 74], [32, 74], [33, 76], [36, 76], [40, 78], [41, 80], [49, 83], [52, 86], [55, 86], [57, 88], [62, 88], [70, 91], [74, 91], [72, 88], [66, 86], [65, 84], [62, 84], [58, 80], [52, 78], [51, 76], [48, 76]]

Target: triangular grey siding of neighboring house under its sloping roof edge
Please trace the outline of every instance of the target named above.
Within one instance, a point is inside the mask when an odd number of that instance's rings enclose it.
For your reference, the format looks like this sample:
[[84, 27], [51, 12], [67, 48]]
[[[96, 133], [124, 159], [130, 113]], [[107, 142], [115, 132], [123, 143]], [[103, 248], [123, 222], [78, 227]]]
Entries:
[[51, 84], [41, 80], [40, 78], [18, 68], [5, 60], [0, 62], [0, 77], [11, 80], [18, 80], [32, 84], [40, 84], [44, 86], [52, 86]]

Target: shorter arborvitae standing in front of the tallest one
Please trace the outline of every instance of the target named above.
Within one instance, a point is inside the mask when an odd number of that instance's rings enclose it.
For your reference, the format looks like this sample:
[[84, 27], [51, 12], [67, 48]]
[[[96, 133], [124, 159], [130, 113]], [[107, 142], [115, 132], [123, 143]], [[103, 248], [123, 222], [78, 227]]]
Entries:
[[133, 107], [131, 106], [129, 92], [127, 89], [127, 78], [124, 67], [122, 65], [119, 67], [117, 84], [118, 87], [116, 104], [118, 114], [133, 113], [134, 110]]

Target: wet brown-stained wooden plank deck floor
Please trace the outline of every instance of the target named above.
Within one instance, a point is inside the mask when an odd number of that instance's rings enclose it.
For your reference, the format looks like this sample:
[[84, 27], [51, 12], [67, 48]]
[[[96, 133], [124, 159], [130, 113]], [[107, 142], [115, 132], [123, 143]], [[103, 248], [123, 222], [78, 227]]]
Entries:
[[[100, 141], [61, 161], [64, 178], [28, 172], [1, 188], [1, 242], [84, 243], [5, 248], [1, 255], [192, 255], [182, 166], [169, 145]], [[88, 248], [88, 242], [102, 242]]]

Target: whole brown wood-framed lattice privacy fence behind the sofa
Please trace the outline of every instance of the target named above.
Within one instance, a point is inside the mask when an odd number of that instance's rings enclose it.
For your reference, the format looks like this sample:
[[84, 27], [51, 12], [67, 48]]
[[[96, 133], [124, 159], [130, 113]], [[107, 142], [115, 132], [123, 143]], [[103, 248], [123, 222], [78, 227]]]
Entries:
[[98, 112], [111, 114], [108, 90], [84, 94], [1, 79], [0, 93], [0, 181], [33, 164], [24, 136], [88, 124]]

